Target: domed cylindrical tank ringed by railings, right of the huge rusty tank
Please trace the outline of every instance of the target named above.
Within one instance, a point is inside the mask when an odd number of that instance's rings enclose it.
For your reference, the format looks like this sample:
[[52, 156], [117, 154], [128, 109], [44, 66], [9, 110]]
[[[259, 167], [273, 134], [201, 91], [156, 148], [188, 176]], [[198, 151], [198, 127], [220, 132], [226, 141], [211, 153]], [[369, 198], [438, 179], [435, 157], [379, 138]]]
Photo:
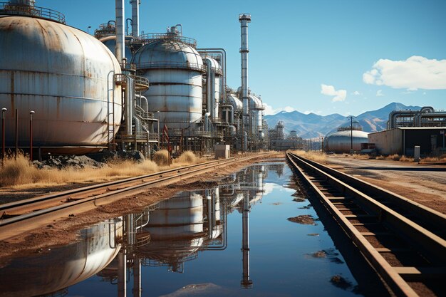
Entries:
[[195, 41], [175, 33], [159, 34], [142, 46], [132, 63], [138, 75], [148, 78], [143, 95], [149, 111], [160, 112], [160, 124], [170, 129], [193, 129], [202, 118], [202, 57]]

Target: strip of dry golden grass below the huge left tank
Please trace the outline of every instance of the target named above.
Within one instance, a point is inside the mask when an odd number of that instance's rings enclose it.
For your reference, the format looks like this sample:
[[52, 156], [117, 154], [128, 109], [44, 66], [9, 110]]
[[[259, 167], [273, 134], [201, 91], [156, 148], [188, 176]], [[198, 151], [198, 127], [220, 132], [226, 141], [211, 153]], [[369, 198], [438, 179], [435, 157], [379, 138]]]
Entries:
[[160, 168], [150, 160], [142, 163], [130, 160], [113, 160], [108, 166], [102, 168], [64, 169], [52, 168], [39, 170], [34, 167], [28, 158], [19, 155], [5, 160], [4, 167], [0, 170], [0, 186], [11, 186], [15, 189], [24, 189], [36, 186], [51, 186], [69, 183], [106, 182], [113, 179], [132, 177], [159, 171]]

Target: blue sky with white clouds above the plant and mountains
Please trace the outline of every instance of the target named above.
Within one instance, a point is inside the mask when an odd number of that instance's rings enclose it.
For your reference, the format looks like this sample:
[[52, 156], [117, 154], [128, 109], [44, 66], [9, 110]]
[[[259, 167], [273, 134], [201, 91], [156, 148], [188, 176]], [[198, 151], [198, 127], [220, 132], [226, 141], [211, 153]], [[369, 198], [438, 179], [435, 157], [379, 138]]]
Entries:
[[[131, 16], [126, 0], [126, 16]], [[182, 24], [200, 48], [225, 48], [240, 85], [239, 13], [250, 13], [249, 88], [267, 113], [358, 115], [391, 102], [446, 110], [446, 1], [148, 1], [140, 30]], [[37, 0], [90, 33], [114, 19], [113, 0]]]

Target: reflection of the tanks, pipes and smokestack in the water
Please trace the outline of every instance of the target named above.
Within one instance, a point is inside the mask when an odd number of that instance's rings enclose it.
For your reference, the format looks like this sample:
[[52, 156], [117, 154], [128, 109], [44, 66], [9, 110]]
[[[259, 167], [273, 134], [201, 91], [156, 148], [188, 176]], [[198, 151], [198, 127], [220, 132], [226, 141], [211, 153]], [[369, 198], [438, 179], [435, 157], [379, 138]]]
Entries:
[[[268, 170], [281, 177], [284, 163]], [[203, 250], [227, 248], [227, 216], [242, 213], [242, 288], [251, 288], [249, 212], [266, 192], [265, 165], [231, 174], [224, 186], [182, 192], [150, 207], [82, 231], [82, 240], [37, 256], [12, 260], [0, 271], [0, 296], [65, 296], [68, 286], [95, 273], [127, 296], [133, 275], [133, 296], [141, 296], [141, 266], [165, 266], [183, 273], [185, 263]], [[57, 265], [54, 265], [57, 264]], [[29, 276], [33, 277], [30, 278]], [[24, 286], [23, 280], [30, 279]]]

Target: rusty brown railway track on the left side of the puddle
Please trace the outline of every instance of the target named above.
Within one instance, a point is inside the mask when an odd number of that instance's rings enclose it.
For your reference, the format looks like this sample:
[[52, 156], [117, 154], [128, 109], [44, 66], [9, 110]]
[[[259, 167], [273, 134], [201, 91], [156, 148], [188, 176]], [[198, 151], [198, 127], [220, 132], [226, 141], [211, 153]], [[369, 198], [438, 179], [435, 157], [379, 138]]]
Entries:
[[[186, 167], [177, 167], [128, 179], [95, 184], [64, 192], [46, 194], [18, 202], [0, 204], [0, 240], [45, 226], [55, 219], [94, 209], [123, 197], [145, 192], [150, 187], [161, 187], [223, 167], [251, 160], [259, 155], [214, 160]], [[131, 202], [130, 202], [131, 203]]]

